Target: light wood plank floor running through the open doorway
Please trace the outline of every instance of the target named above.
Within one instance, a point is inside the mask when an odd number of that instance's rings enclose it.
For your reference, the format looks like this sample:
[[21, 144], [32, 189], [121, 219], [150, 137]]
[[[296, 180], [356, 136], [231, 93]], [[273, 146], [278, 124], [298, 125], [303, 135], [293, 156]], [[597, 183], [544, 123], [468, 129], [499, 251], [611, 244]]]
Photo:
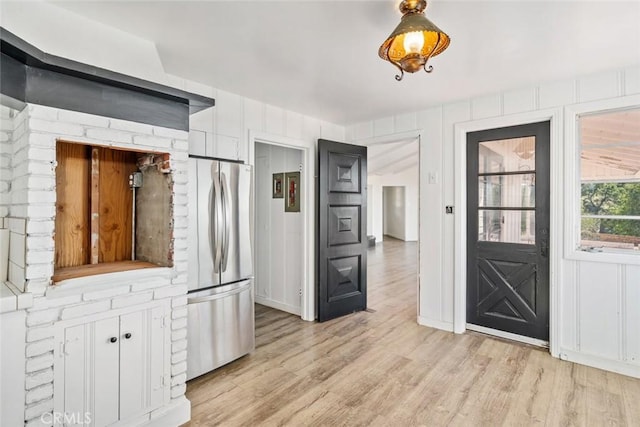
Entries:
[[190, 426], [640, 426], [640, 380], [416, 324], [415, 243], [369, 250], [369, 307], [256, 306], [256, 350], [187, 385]]

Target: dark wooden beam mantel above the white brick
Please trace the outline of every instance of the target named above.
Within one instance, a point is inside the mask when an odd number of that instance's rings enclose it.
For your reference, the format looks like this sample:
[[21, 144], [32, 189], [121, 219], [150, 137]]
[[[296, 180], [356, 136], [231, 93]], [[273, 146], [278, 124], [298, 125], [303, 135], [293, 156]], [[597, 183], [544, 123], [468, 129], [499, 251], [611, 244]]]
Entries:
[[[189, 130], [214, 99], [50, 55], [0, 27], [2, 100]], [[11, 106], [11, 105], [10, 105]]]

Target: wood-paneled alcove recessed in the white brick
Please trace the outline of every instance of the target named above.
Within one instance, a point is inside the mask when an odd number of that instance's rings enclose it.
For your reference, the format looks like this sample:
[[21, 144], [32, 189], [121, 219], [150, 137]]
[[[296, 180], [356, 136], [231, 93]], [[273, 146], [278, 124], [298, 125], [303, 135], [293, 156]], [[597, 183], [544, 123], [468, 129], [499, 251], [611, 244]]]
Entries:
[[168, 154], [57, 141], [56, 163], [54, 282], [172, 265]]

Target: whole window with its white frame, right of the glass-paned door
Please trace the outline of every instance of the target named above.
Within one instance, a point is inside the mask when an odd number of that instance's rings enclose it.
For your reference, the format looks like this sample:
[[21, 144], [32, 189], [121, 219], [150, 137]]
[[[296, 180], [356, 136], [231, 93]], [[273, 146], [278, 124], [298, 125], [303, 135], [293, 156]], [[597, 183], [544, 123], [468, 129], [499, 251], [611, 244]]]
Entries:
[[569, 256], [640, 264], [640, 97], [566, 111]]

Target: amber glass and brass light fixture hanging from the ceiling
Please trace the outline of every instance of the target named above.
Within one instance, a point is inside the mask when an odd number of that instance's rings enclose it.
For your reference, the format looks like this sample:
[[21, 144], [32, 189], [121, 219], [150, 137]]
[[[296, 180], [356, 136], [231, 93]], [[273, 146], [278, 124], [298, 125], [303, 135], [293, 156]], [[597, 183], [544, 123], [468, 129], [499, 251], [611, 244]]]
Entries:
[[400, 70], [396, 75], [398, 81], [405, 71], [415, 73], [421, 68], [427, 73], [433, 71], [431, 65], [427, 67], [427, 61], [449, 46], [449, 36], [424, 16], [426, 8], [426, 0], [402, 0], [400, 24], [378, 50], [380, 58]]

